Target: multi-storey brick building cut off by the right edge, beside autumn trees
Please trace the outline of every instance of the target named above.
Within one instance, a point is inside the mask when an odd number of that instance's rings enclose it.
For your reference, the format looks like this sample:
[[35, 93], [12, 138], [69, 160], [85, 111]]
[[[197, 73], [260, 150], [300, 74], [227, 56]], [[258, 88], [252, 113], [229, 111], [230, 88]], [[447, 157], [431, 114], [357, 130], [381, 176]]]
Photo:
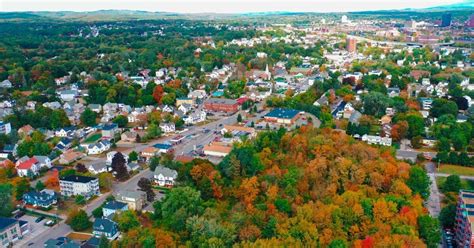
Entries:
[[474, 191], [459, 192], [454, 236], [458, 247], [474, 247], [472, 228], [474, 224]]

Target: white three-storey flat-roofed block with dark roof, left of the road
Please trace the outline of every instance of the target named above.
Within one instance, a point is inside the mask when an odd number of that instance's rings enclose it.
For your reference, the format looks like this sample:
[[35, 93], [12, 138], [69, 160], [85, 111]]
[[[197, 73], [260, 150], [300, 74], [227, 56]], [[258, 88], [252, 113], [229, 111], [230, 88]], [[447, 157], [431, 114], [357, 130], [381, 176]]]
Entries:
[[59, 179], [61, 195], [73, 196], [83, 195], [92, 197], [99, 195], [99, 179], [79, 175], [70, 175]]

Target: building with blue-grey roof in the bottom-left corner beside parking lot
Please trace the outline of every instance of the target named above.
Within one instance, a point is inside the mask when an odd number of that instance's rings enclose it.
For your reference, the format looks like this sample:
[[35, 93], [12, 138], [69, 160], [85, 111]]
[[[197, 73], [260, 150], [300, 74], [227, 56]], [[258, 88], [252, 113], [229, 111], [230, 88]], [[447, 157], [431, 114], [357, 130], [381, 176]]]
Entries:
[[28, 232], [27, 221], [0, 217], [0, 247], [13, 247]]

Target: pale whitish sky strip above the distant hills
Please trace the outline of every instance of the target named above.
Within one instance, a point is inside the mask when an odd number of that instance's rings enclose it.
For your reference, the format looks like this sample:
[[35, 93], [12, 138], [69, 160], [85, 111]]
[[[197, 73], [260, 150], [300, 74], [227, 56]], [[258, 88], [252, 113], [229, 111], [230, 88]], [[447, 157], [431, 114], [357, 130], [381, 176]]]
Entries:
[[466, 1], [474, 0], [0, 0], [0, 11], [347, 12], [426, 8]]

